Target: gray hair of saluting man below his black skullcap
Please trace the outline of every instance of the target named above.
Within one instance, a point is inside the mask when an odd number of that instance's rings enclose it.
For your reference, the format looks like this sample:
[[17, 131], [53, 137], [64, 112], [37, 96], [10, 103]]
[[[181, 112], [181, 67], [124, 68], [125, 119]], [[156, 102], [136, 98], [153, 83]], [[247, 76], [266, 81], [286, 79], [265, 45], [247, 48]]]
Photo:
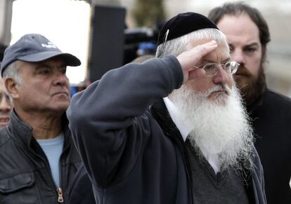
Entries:
[[[170, 31], [171, 32], [171, 31]], [[179, 38], [166, 41], [160, 46], [157, 46], [156, 57], [164, 57], [167, 55], [178, 56], [186, 50], [190, 50], [191, 41], [200, 41], [202, 39], [214, 40], [217, 43], [225, 42], [226, 36], [219, 30], [213, 28], [199, 29], [189, 34], [183, 35]]]

